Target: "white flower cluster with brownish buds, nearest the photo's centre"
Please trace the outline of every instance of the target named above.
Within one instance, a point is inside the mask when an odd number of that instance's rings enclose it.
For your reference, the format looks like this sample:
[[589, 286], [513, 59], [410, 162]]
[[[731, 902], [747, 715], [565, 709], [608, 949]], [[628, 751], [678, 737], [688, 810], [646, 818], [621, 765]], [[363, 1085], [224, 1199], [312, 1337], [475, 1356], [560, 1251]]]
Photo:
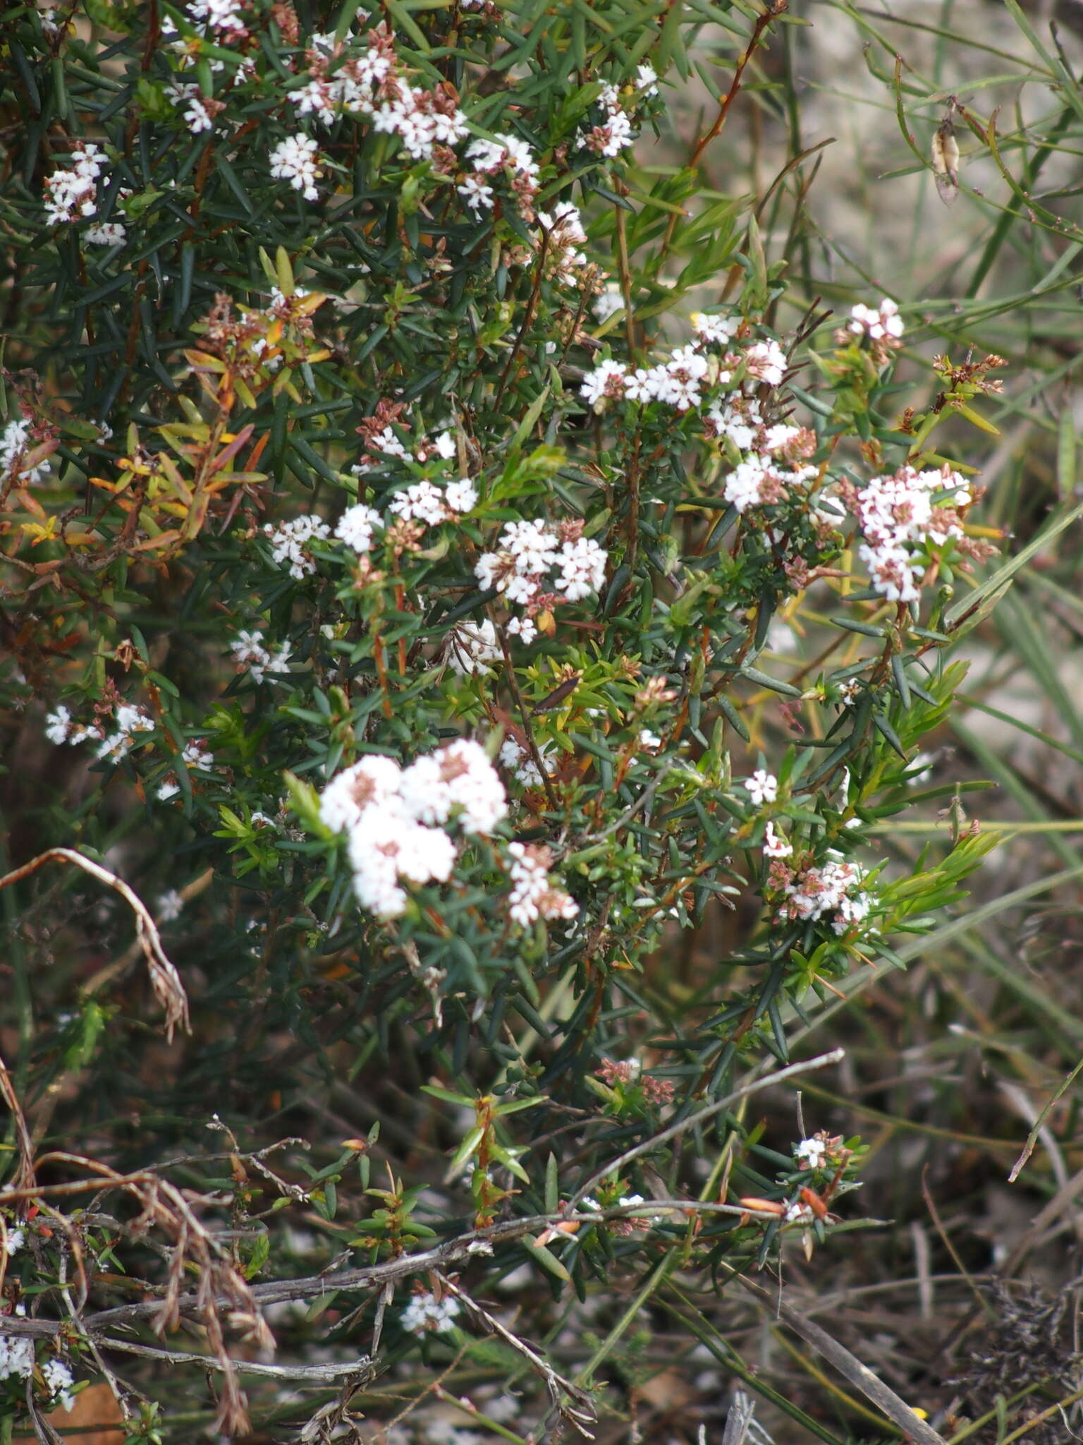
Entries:
[[[478, 581], [526, 608], [536, 608], [552, 594], [556, 594], [553, 600], [582, 601], [605, 581], [608, 553], [591, 538], [570, 535], [573, 529], [569, 527], [563, 530], [562, 540], [546, 520], [505, 523], [497, 551], [478, 558], [474, 568]], [[550, 572], [557, 575], [547, 577]], [[523, 642], [533, 642], [537, 634], [529, 617], [513, 618], [508, 630], [518, 633]]]

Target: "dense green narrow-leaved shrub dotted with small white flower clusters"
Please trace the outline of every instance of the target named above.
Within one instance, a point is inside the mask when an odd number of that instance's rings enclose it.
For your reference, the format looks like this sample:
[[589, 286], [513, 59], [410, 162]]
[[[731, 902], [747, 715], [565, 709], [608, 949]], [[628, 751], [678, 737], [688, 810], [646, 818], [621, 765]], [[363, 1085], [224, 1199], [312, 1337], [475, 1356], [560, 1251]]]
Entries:
[[[156, 1361], [205, 1358], [206, 1422], [332, 1439], [381, 1371], [465, 1357], [513, 1439], [586, 1433], [614, 1270], [830, 1247], [859, 1144], [738, 1101], [988, 847], [907, 874], [869, 831], [960, 679], [991, 548], [931, 436], [1001, 360], [939, 357], [900, 419], [891, 301], [797, 316], [699, 150], [637, 160], [700, 23], [16, 10], [12, 861], [130, 884], [191, 1036], [149, 1038], [130, 900], [19, 876], [19, 957], [56, 962], [20, 964], [6, 1092], [13, 1410], [108, 1368], [139, 1438], [191, 1438]], [[722, 910], [732, 954], [671, 972]], [[570, 1370], [560, 1319], [605, 1337]]]

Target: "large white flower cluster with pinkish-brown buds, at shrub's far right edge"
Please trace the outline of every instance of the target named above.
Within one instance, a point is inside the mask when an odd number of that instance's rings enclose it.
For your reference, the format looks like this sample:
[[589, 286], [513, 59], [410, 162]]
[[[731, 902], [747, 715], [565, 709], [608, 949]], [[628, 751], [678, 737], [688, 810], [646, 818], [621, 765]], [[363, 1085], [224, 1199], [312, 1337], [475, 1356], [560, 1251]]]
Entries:
[[[946, 496], [937, 500], [939, 493]], [[865, 538], [858, 553], [872, 587], [888, 601], [915, 603], [926, 571], [918, 549], [928, 542], [941, 546], [949, 538], [960, 538], [956, 509], [970, 501], [969, 483], [947, 464], [939, 471], [900, 467], [856, 493], [853, 510]]]

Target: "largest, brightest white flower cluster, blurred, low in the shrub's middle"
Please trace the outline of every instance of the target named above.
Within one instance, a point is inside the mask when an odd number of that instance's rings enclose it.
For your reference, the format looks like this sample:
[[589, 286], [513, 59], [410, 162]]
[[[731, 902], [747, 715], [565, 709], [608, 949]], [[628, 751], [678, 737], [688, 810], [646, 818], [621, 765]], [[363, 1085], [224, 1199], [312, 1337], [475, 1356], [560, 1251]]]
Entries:
[[466, 738], [407, 769], [374, 753], [323, 789], [319, 815], [348, 837], [354, 892], [377, 918], [406, 909], [407, 883], [446, 883], [455, 842], [445, 831], [490, 834], [507, 815], [504, 785], [485, 750]]

